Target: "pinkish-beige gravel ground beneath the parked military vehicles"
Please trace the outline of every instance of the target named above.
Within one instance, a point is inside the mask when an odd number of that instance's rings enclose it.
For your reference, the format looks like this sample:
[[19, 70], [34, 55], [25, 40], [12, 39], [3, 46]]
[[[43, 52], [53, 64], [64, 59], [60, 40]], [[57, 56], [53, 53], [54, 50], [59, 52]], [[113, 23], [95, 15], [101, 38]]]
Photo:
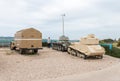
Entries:
[[40, 50], [37, 55], [20, 55], [4, 48], [0, 49], [0, 81], [39, 81], [66, 76], [72, 78], [102, 71], [119, 62], [119, 59], [107, 55], [103, 59], [84, 60], [48, 48]]

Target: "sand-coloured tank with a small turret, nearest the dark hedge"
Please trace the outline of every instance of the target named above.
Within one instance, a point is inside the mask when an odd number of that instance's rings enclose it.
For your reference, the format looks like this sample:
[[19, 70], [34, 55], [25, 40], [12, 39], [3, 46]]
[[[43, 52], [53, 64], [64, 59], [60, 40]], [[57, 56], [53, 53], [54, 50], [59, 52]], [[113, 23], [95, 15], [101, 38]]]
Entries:
[[71, 44], [68, 47], [68, 53], [83, 57], [84, 59], [90, 56], [102, 59], [105, 50], [99, 45], [99, 40], [95, 38], [94, 34], [90, 34], [87, 37], [81, 38], [80, 42]]

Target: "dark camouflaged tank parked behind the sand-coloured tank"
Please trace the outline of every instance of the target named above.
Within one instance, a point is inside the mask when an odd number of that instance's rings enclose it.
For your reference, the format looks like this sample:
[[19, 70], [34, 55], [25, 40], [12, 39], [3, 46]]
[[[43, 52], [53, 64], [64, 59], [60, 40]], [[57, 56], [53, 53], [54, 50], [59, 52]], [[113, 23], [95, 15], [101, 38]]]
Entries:
[[68, 46], [70, 45], [69, 38], [65, 35], [60, 36], [58, 42], [52, 44], [52, 49], [58, 51], [67, 51]]

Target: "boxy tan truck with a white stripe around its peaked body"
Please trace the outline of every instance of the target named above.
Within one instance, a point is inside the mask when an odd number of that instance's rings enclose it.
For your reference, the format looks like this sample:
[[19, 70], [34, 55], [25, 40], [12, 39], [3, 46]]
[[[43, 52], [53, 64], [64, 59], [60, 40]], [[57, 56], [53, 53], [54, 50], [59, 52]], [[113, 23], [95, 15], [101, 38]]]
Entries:
[[42, 33], [34, 28], [18, 31], [10, 45], [11, 50], [19, 50], [21, 54], [32, 50], [37, 53], [42, 48]]

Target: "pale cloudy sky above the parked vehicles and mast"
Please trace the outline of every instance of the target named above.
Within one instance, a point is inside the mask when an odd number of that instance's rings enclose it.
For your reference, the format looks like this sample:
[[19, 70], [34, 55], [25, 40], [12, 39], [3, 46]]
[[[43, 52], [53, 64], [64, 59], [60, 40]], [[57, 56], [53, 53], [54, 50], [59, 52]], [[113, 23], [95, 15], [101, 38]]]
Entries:
[[88, 34], [99, 39], [120, 38], [120, 0], [0, 0], [0, 36], [35, 28], [43, 38], [59, 39], [62, 14], [65, 35], [78, 40]]

